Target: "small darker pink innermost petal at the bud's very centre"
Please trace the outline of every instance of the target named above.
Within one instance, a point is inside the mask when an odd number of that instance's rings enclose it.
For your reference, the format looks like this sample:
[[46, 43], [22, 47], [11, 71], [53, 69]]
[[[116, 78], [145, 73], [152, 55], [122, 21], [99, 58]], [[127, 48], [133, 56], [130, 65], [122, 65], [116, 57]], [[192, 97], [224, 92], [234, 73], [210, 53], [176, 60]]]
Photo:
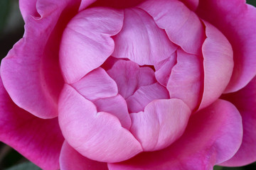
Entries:
[[153, 69], [139, 67], [138, 64], [125, 60], [115, 62], [107, 74], [117, 83], [118, 93], [125, 99], [132, 96], [139, 86], [147, 86], [156, 82]]

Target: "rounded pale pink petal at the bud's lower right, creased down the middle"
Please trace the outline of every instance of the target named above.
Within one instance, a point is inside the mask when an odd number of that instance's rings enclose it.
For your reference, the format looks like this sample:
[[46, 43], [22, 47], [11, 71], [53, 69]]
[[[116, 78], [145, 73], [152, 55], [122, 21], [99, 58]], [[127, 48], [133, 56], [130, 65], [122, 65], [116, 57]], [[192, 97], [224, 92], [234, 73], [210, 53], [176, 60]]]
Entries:
[[164, 149], [183, 134], [191, 110], [179, 99], [152, 101], [144, 112], [131, 113], [131, 132], [144, 151]]

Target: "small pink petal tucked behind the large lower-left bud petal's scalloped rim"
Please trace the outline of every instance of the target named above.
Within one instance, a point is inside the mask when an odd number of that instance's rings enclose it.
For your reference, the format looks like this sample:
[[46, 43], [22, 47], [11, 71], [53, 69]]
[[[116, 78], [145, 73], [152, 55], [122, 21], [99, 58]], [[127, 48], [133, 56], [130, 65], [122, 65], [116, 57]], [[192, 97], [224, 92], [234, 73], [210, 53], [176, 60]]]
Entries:
[[121, 95], [110, 98], [99, 98], [93, 101], [98, 112], [107, 112], [116, 116], [122, 127], [129, 130], [132, 125], [132, 120], [128, 113], [127, 103]]

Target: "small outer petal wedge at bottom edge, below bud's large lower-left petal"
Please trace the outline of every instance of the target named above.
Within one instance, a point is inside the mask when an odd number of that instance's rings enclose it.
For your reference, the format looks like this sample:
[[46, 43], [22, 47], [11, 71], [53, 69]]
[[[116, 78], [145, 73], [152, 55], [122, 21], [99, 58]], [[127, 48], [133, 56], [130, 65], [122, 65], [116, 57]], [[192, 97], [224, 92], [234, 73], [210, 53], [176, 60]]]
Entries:
[[68, 145], [68, 142], [63, 143], [60, 152], [60, 169], [61, 170], [108, 170], [107, 164], [103, 162], [95, 162], [92, 159], [79, 154], [73, 147]]

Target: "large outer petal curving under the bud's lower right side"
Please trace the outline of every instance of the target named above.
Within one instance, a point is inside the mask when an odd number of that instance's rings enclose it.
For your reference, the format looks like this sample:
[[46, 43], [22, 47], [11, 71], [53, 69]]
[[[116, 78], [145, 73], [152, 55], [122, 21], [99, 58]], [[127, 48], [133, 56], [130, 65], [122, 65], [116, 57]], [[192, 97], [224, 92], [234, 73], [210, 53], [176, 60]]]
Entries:
[[240, 113], [228, 101], [218, 100], [192, 115], [184, 134], [170, 147], [108, 166], [110, 170], [211, 170], [214, 164], [232, 157], [241, 140]]

